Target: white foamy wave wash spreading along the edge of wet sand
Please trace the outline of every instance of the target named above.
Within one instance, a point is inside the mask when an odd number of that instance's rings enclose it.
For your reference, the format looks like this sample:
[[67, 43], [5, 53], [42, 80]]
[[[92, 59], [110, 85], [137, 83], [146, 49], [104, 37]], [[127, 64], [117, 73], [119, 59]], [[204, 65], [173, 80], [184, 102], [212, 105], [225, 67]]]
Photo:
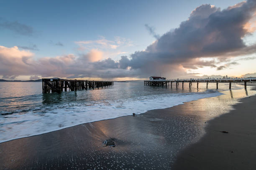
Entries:
[[[118, 100], [112, 103], [61, 104], [55, 110], [27, 112], [0, 118], [0, 143], [33, 135], [68, 128], [86, 122], [113, 119], [120, 116], [141, 114], [147, 110], [162, 109], [205, 97], [216, 97], [222, 93], [195, 92], [146, 95], [138, 98]], [[39, 108], [38, 108], [39, 109]]]

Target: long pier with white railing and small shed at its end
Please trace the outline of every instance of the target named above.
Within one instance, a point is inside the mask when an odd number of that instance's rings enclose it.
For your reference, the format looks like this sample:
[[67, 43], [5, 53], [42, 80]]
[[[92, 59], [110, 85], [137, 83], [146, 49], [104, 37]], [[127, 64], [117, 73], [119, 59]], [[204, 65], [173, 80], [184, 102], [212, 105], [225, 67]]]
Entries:
[[145, 80], [144, 85], [150, 86], [169, 86], [169, 83], [176, 84], [176, 88], [178, 88], [179, 83], [182, 83], [182, 88], [184, 87], [184, 82], [189, 83], [189, 88], [192, 86], [192, 82], [197, 83], [197, 88], [200, 82], [206, 83], [206, 88], [208, 88], [208, 84], [210, 82], [216, 83], [216, 89], [218, 89], [219, 83], [229, 83], [229, 89], [231, 89], [231, 84], [233, 83], [243, 83], [244, 88], [246, 89], [247, 82], [256, 82], [256, 77], [228, 77], [228, 78], [200, 78], [200, 79], [177, 79], [177, 80]]

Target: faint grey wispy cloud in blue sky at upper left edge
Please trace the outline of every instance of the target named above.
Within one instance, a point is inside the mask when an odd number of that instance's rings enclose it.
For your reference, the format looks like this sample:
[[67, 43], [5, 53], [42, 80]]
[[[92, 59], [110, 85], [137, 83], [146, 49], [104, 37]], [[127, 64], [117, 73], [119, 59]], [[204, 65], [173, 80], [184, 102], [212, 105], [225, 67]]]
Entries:
[[0, 28], [11, 30], [20, 35], [33, 35], [34, 33], [34, 30], [31, 26], [19, 23], [18, 21], [10, 22], [7, 20], [3, 20], [3, 18], [0, 18]]

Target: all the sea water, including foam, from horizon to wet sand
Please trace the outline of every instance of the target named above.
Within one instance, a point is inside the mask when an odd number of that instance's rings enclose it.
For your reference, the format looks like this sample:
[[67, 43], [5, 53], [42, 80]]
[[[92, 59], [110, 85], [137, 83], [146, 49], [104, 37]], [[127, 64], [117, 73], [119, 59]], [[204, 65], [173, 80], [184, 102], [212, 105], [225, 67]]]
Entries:
[[[115, 82], [95, 90], [42, 94], [41, 82], [0, 82], [0, 143], [39, 135], [86, 122], [141, 114], [147, 110], [221, 95], [227, 83], [171, 83], [167, 87], [143, 85], [143, 81]], [[242, 85], [233, 83], [232, 89]]]

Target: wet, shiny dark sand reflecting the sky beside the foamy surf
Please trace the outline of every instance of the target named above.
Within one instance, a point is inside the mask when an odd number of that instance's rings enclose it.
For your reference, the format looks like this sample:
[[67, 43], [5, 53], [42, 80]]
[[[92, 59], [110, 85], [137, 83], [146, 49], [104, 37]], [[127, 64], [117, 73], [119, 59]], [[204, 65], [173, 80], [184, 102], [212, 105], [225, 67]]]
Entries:
[[[141, 115], [84, 123], [0, 143], [0, 170], [169, 170], [179, 151], [204, 135], [204, 128], [208, 124], [205, 122], [228, 112], [231, 105], [237, 102], [236, 96], [245, 97], [248, 93], [251, 94], [246, 90], [227, 91], [226, 95], [219, 97], [151, 110]], [[182, 152], [176, 168], [182, 169], [182, 165], [188, 166], [185, 169], [234, 169], [232, 166], [237, 168], [242, 165], [253, 167], [255, 163], [252, 160], [256, 158], [256, 124], [253, 119], [255, 99], [254, 96], [246, 97], [244, 103], [236, 105], [243, 112], [232, 111], [221, 116], [216, 119], [217, 124], [212, 120], [212, 126], [207, 126], [207, 135], [200, 140], [204, 144], [192, 145], [189, 147], [192, 151]], [[224, 119], [219, 120], [222, 117]], [[219, 132], [223, 130], [229, 133]], [[204, 140], [208, 132], [214, 135]], [[115, 140], [116, 146], [103, 147], [103, 141], [111, 138]]]

